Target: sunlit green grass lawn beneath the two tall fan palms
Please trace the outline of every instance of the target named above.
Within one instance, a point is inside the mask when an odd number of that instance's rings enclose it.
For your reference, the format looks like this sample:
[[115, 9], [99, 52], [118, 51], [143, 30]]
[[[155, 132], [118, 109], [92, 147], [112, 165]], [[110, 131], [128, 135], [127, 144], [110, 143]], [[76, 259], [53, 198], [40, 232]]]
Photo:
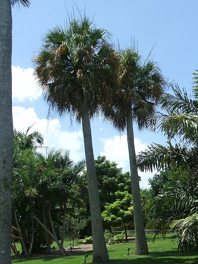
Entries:
[[[179, 256], [177, 253], [177, 245], [171, 242], [172, 235], [163, 240], [158, 238], [152, 243], [152, 238], [148, 238], [149, 255], [139, 256], [133, 255], [135, 243], [123, 243], [118, 245], [108, 246], [108, 252], [111, 264], [180, 264], [180, 263], [197, 263], [198, 264], [198, 252], [193, 252], [191, 256]], [[70, 241], [69, 241], [70, 243]], [[67, 246], [70, 246], [70, 244]], [[129, 256], [127, 256], [127, 248], [130, 248]], [[88, 252], [87, 263], [92, 262], [92, 251]], [[60, 258], [42, 258], [42, 259], [32, 259], [24, 258], [22, 260], [14, 259], [12, 263], [24, 263], [24, 264], [82, 264], [84, 263], [84, 254], [75, 255], [70, 257], [60, 257]], [[102, 263], [102, 262], [101, 262]]]

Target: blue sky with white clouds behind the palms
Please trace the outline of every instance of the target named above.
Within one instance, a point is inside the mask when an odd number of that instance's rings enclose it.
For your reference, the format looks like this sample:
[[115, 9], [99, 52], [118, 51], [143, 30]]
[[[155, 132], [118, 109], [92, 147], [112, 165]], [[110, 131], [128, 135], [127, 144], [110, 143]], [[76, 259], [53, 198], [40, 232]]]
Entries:
[[[13, 16], [13, 123], [17, 130], [32, 125], [45, 137], [45, 146], [70, 149], [75, 161], [84, 158], [81, 125], [69, 117], [46, 120], [48, 107], [32, 77], [32, 57], [41, 47], [41, 38], [56, 25], [64, 25], [68, 14], [78, 17], [78, 10], [99, 28], [108, 30], [112, 43], [121, 48], [131, 45], [135, 38], [144, 59], [151, 52], [162, 74], [191, 94], [192, 73], [198, 69], [198, 4], [196, 0], [101, 0], [66, 1], [32, 0], [29, 9], [12, 10]], [[66, 10], [67, 8], [67, 10]], [[68, 12], [68, 14], [67, 14]], [[139, 132], [135, 129], [136, 153], [151, 142], [164, 144], [161, 134]], [[129, 170], [126, 133], [119, 134], [101, 119], [92, 122], [94, 156], [105, 155], [115, 161], [123, 172]], [[140, 186], [147, 187], [149, 173], [140, 173]]]

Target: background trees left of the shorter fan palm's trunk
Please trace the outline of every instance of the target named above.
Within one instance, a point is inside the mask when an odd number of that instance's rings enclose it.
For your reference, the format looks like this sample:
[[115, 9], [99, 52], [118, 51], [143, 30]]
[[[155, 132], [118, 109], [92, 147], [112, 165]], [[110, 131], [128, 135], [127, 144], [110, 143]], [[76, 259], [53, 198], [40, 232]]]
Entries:
[[[66, 253], [66, 237], [75, 240], [92, 235], [85, 162], [74, 163], [68, 151], [47, 149], [42, 154], [42, 135], [29, 129], [25, 133], [14, 130], [12, 225], [19, 234], [13, 232], [20, 237], [25, 255], [49, 253], [53, 240], [60, 253]], [[104, 156], [98, 156], [95, 166], [104, 227], [134, 228], [130, 173], [122, 173]]]

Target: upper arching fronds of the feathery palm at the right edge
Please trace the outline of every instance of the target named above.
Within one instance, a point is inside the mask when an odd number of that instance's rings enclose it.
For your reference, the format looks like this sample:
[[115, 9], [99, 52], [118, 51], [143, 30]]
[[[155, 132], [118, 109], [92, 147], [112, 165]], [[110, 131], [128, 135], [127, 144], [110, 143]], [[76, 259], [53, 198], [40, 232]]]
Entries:
[[[198, 101], [189, 99], [186, 91], [173, 86], [174, 94], [165, 94], [162, 98], [163, 110], [167, 114], [156, 115], [154, 130], [159, 129], [168, 138], [168, 145], [152, 144], [147, 150], [137, 156], [138, 167], [141, 171], [178, 167], [197, 171], [198, 146]], [[196, 98], [196, 90], [194, 90]], [[156, 125], [157, 124], [157, 125]], [[173, 145], [172, 140], [179, 140]]]

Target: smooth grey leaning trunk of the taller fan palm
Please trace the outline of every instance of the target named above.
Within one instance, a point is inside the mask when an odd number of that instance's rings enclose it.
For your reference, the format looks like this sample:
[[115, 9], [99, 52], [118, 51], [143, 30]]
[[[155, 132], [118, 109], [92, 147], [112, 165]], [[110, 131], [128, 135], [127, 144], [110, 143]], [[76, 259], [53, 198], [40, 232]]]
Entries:
[[84, 111], [82, 114], [82, 127], [92, 223], [93, 262], [107, 262], [109, 261], [109, 255], [106, 248], [104, 230], [102, 226], [100, 198], [98, 193], [96, 168], [93, 156], [91, 125], [88, 111]]

